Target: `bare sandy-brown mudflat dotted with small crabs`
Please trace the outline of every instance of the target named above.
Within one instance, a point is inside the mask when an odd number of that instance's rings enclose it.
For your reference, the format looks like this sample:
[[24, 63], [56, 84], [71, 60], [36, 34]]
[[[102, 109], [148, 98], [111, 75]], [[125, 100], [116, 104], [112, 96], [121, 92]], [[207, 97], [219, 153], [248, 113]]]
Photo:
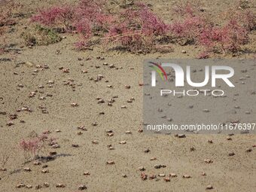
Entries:
[[[35, 11], [35, 8], [62, 1], [20, 2]], [[172, 2], [157, 0], [147, 3], [163, 17], [172, 14], [169, 11]], [[206, 10], [215, 15], [232, 5], [233, 1], [203, 3]], [[77, 36], [64, 34], [66, 38], [57, 44], [29, 48], [23, 47], [20, 39], [20, 32], [28, 23], [29, 19], [23, 18], [16, 26], [11, 26], [14, 32], [5, 34], [5, 43], [10, 45], [10, 52], [0, 55], [0, 111], [3, 112], [0, 114], [0, 163], [2, 157], [9, 157], [3, 167], [7, 170], [0, 171], [0, 191], [37, 191], [35, 186], [38, 184], [42, 186], [40, 191], [78, 191], [81, 184], [87, 186], [85, 191], [205, 191], [209, 184], [213, 187], [209, 191], [255, 191], [256, 148], [253, 146], [256, 145], [256, 135], [236, 134], [227, 140], [227, 135], [187, 135], [186, 138], [177, 138], [138, 131], [143, 129], [143, 87], [139, 86], [143, 83], [143, 60], [159, 57], [195, 58], [200, 47], [174, 44], [172, 53], [146, 55], [105, 51], [97, 46], [93, 50], [79, 52], [73, 46]], [[3, 40], [4, 36], [0, 38]], [[255, 38], [254, 31], [251, 42], [246, 45], [252, 50], [255, 50]], [[181, 53], [181, 50], [187, 53]], [[233, 59], [251, 59], [253, 56], [253, 53], [244, 53]], [[216, 57], [232, 56], [219, 54]], [[104, 62], [108, 66], [103, 65]], [[115, 67], [110, 68], [111, 64]], [[38, 65], [47, 65], [49, 69], [38, 69]], [[69, 73], [63, 73], [59, 67], [69, 69]], [[248, 75], [255, 78], [255, 67], [245, 68]], [[82, 73], [82, 70], [87, 70], [87, 73]], [[101, 81], [90, 80], [97, 78], [97, 75], [104, 78]], [[236, 80], [239, 81], [243, 75], [238, 74]], [[54, 83], [49, 84], [49, 81]], [[248, 84], [251, 82], [249, 78], [246, 81]], [[65, 85], [66, 82], [75, 85]], [[126, 85], [130, 85], [130, 89], [126, 89]], [[256, 91], [256, 85], [251, 85], [248, 91]], [[29, 93], [32, 92], [36, 94], [30, 98]], [[251, 96], [255, 99], [256, 95]], [[97, 97], [105, 102], [98, 103]], [[134, 101], [127, 103], [132, 97]], [[108, 106], [111, 98], [115, 101]], [[256, 123], [254, 99], [248, 100], [246, 105], [242, 105], [245, 108], [232, 117], [241, 115], [240, 118], [246, 119], [244, 111], [252, 110], [249, 115], [250, 118], [254, 117]], [[72, 107], [72, 103], [78, 106]], [[230, 101], [228, 103], [232, 104]], [[126, 105], [126, 108], [121, 108], [122, 105]], [[17, 112], [24, 106], [32, 111]], [[214, 107], [208, 106], [212, 113], [215, 112]], [[99, 114], [101, 111], [104, 114]], [[229, 115], [232, 112], [230, 109], [224, 113]], [[11, 120], [14, 125], [7, 126], [10, 114], [17, 114], [17, 119]], [[25, 122], [20, 123], [20, 120]], [[78, 130], [78, 126], [84, 126], [87, 130]], [[20, 141], [32, 139], [47, 130], [51, 132], [50, 137], [56, 138], [60, 148], [47, 146], [44, 153], [56, 151], [55, 159], [40, 161], [41, 165], [38, 166], [33, 164], [34, 160], [24, 164]], [[106, 130], [112, 130], [114, 136], [107, 136]], [[82, 134], [79, 135], [79, 132]], [[78, 148], [72, 145], [78, 145]], [[114, 150], [109, 150], [108, 145], [112, 145]], [[194, 151], [190, 150], [191, 147], [194, 147]], [[246, 152], [248, 148], [250, 152]], [[233, 156], [229, 155], [231, 152]], [[154, 157], [155, 160], [151, 159]], [[212, 160], [212, 163], [206, 163], [206, 159]], [[108, 161], [114, 161], [114, 164], [107, 164]], [[47, 168], [42, 168], [45, 165]], [[156, 169], [155, 165], [166, 167]], [[142, 166], [144, 171], [139, 170]], [[25, 172], [23, 168], [26, 167], [31, 171]], [[49, 172], [42, 173], [43, 169]], [[90, 175], [84, 175], [84, 172], [90, 172]], [[141, 178], [142, 172], [148, 175], [145, 181]], [[202, 175], [202, 172], [206, 175]], [[169, 176], [170, 173], [175, 173], [177, 177], [170, 178], [169, 182], [163, 181], [161, 174]], [[151, 180], [151, 175], [157, 175], [157, 178]], [[183, 175], [190, 175], [191, 178], [182, 178]], [[21, 182], [32, 185], [32, 189], [16, 188]], [[44, 182], [50, 186], [44, 187]], [[66, 187], [56, 188], [56, 184], [65, 184]]]

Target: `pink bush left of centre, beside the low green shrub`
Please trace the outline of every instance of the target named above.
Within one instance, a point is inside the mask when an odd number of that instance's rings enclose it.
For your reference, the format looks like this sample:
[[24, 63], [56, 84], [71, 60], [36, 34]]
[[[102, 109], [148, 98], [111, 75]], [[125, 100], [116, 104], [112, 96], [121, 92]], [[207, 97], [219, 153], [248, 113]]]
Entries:
[[77, 47], [90, 45], [89, 38], [104, 32], [112, 21], [111, 14], [104, 10], [104, 1], [81, 0], [78, 5], [60, 5], [40, 10], [32, 21], [44, 26], [58, 27], [62, 32], [76, 32], [81, 36]]

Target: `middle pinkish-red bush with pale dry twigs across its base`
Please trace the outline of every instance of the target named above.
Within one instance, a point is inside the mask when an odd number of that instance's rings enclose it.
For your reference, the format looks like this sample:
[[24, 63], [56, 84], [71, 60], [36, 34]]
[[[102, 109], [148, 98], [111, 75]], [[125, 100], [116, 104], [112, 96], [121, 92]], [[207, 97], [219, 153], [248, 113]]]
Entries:
[[166, 35], [168, 26], [146, 5], [136, 4], [120, 15], [105, 35], [107, 43], [114, 42], [126, 50], [136, 52], [150, 51], [156, 45], [157, 36]]

